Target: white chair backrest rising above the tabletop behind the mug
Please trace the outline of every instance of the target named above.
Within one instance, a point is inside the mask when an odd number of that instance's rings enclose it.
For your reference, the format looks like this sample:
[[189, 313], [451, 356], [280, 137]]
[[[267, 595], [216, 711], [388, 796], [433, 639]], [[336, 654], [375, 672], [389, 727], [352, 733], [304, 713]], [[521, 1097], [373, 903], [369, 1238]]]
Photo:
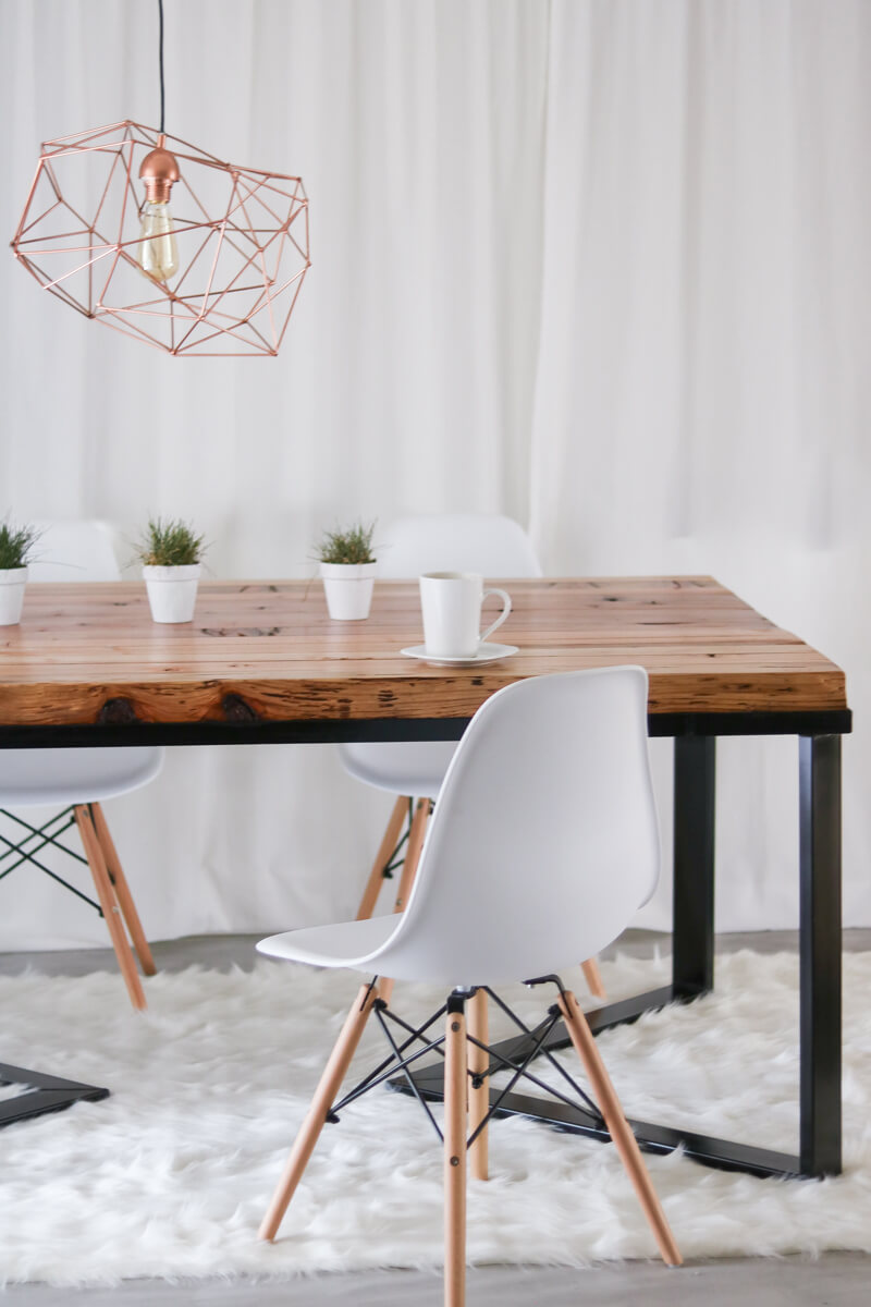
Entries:
[[512, 518], [484, 512], [398, 518], [376, 529], [379, 576], [404, 579], [426, 571], [477, 571], [541, 576], [529, 536]]

